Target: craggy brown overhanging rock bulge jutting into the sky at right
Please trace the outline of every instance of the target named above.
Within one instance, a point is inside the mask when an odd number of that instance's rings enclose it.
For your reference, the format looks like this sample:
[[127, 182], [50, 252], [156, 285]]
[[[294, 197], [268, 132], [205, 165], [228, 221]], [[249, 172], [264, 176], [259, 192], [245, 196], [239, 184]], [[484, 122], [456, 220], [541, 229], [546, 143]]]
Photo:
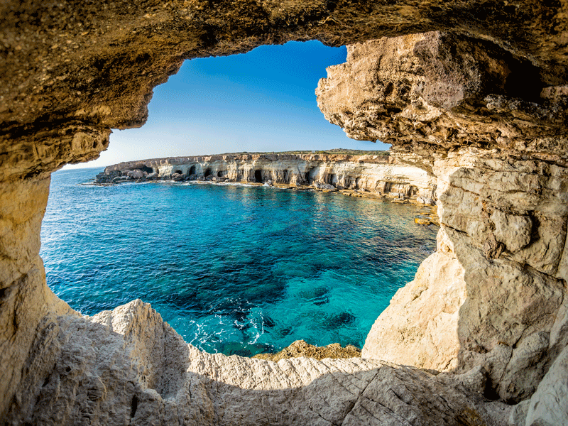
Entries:
[[[530, 84], [520, 86], [524, 79]], [[528, 60], [492, 43], [432, 32], [350, 46], [316, 94], [324, 116], [354, 139], [439, 155], [463, 146], [545, 156], [554, 148], [565, 163], [568, 95], [547, 86]]]

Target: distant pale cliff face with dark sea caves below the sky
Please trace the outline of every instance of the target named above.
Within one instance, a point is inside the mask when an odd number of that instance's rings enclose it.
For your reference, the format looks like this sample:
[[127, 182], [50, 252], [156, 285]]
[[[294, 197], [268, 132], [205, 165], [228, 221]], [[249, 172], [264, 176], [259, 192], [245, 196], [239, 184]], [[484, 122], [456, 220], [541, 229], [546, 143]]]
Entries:
[[[337, 189], [402, 194], [435, 202], [435, 178], [415, 166], [395, 163], [388, 155], [247, 153], [158, 158], [109, 165], [97, 182], [121, 181], [121, 176], [139, 175], [135, 170], [146, 176], [150, 174], [151, 179], [327, 183]], [[121, 176], [115, 177], [116, 172]]]

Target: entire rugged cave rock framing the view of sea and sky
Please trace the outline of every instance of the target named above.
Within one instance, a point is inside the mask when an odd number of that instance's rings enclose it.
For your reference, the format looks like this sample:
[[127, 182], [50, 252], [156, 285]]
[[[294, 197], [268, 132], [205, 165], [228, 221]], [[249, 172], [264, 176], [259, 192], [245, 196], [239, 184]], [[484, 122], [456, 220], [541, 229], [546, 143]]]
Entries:
[[[567, 424], [567, 13], [565, 0], [4, 1], [0, 419], [506, 424], [485, 393], [523, 400], [512, 425]], [[373, 327], [371, 359], [202, 354], [147, 305], [84, 318], [58, 300], [38, 256], [50, 173], [141, 126], [182, 60], [309, 39], [353, 45], [318, 88], [327, 119], [437, 177], [438, 251]]]

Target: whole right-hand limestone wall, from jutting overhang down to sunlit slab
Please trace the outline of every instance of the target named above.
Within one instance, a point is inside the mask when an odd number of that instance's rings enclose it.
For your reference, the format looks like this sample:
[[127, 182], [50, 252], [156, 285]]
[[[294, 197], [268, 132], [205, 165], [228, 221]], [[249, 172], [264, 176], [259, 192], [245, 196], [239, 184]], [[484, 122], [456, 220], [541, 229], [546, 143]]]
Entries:
[[486, 396], [518, 403], [568, 339], [568, 92], [522, 91], [506, 55], [479, 43], [426, 33], [354, 45], [317, 94], [349, 136], [390, 139], [398, 160], [437, 178], [437, 253], [393, 297], [362, 356], [481, 366]]

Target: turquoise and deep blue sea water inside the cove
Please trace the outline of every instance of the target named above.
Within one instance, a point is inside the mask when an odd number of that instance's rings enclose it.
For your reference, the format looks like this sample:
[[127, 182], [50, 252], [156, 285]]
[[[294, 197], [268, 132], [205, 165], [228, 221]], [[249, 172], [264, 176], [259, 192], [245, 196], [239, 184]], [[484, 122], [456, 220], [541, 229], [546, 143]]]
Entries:
[[435, 250], [416, 207], [269, 187], [82, 185], [53, 173], [40, 254], [48, 285], [94, 315], [140, 298], [187, 342], [245, 356], [297, 339], [362, 347]]

